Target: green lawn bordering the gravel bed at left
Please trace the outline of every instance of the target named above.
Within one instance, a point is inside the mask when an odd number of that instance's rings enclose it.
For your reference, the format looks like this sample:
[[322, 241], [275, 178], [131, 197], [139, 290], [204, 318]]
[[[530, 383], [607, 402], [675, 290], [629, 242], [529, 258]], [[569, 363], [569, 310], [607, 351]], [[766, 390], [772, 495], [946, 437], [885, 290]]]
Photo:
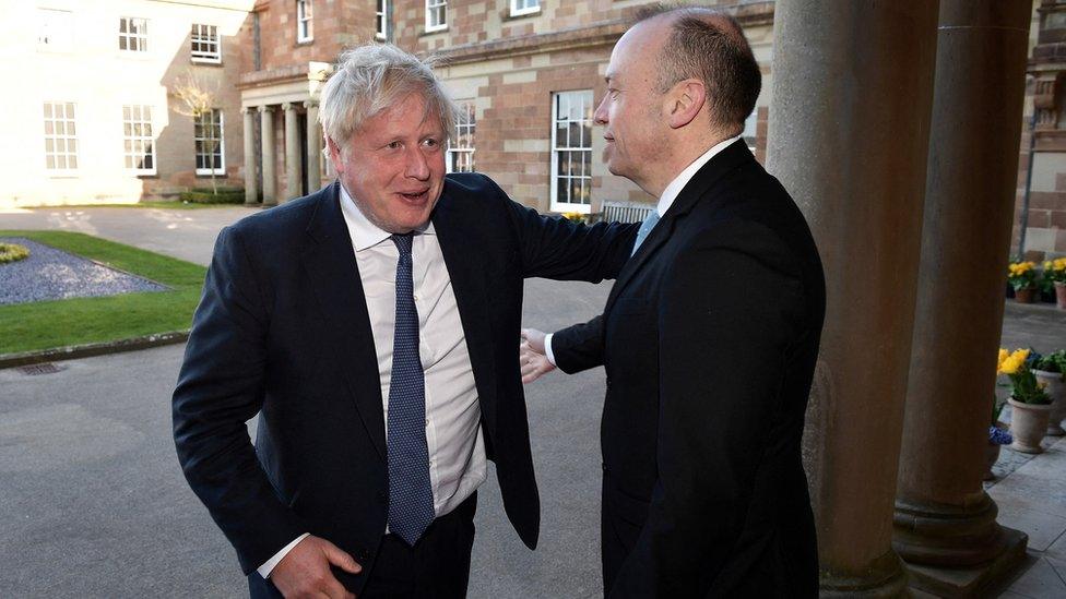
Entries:
[[203, 266], [83, 233], [0, 230], [0, 237], [32, 239], [171, 288], [0, 306], [0, 355], [183, 331], [192, 323]]

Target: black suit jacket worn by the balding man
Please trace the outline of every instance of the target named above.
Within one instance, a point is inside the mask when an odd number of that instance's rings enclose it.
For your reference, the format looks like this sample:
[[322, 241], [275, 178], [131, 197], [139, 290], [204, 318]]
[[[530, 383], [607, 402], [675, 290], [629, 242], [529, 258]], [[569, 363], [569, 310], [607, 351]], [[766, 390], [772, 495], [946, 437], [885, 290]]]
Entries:
[[564, 371], [606, 367], [612, 597], [817, 594], [800, 443], [824, 314], [806, 221], [738, 141], [685, 187], [603, 315], [554, 336]]

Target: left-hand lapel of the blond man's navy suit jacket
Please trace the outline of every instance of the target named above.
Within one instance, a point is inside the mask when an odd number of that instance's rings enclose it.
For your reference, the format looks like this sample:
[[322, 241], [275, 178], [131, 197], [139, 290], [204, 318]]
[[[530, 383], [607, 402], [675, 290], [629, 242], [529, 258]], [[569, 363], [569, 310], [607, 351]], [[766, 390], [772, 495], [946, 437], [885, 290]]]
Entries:
[[378, 356], [359, 267], [340, 201], [339, 183], [323, 190], [307, 227], [309, 242], [300, 261], [324, 316], [328, 343], [341, 357], [340, 370], [348, 393], [367, 434], [384, 460], [384, 414]]

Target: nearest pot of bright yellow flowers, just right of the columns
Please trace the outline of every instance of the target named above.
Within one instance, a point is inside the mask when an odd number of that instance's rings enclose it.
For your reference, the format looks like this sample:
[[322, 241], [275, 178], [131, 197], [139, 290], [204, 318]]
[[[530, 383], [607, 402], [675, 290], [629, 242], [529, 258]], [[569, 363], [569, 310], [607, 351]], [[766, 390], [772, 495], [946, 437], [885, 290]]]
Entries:
[[1010, 379], [1010, 397], [1007, 398], [1010, 404], [1010, 433], [1014, 436], [1010, 448], [1039, 454], [1044, 451], [1040, 441], [1047, 432], [1051, 397], [1037, 381], [1029, 354], [1028, 349], [1016, 349], [1014, 352], [1000, 349], [996, 373]]

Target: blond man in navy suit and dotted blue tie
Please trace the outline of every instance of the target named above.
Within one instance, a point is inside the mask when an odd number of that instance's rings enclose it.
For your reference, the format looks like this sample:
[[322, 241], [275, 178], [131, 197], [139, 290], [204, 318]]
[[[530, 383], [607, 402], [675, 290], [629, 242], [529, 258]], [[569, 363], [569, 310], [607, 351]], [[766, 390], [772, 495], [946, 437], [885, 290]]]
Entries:
[[174, 393], [178, 456], [252, 597], [462, 597], [487, 459], [537, 540], [523, 278], [612, 278], [636, 228], [446, 177], [454, 107], [394, 46], [343, 53], [320, 104], [339, 180], [218, 236]]

